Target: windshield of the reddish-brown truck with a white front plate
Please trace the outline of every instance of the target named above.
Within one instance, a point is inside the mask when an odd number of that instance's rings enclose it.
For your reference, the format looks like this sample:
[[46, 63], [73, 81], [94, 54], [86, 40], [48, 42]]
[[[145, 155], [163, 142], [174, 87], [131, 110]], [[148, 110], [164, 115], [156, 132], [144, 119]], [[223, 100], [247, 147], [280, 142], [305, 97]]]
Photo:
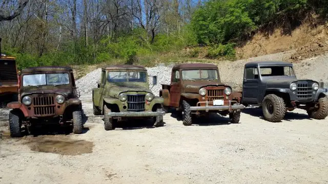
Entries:
[[182, 80], [215, 80], [219, 79], [217, 70], [183, 70]]

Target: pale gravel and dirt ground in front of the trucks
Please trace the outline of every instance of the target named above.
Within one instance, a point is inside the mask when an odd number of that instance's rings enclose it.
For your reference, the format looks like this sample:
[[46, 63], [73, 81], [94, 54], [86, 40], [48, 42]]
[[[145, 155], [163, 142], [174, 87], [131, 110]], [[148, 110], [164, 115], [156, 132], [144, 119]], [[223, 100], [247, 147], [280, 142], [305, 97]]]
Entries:
[[328, 122], [303, 110], [270, 123], [249, 108], [240, 124], [212, 116], [189, 127], [168, 113], [164, 127], [105, 131], [81, 99], [83, 134], [11, 139], [1, 126], [0, 183], [328, 183]]

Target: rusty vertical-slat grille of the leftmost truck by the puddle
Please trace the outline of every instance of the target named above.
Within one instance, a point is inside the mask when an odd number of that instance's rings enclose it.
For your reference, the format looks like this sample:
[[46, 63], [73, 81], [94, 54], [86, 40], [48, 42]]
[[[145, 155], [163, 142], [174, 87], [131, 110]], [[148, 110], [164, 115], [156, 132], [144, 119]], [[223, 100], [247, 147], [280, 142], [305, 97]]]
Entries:
[[33, 97], [33, 109], [36, 116], [55, 115], [55, 98]]

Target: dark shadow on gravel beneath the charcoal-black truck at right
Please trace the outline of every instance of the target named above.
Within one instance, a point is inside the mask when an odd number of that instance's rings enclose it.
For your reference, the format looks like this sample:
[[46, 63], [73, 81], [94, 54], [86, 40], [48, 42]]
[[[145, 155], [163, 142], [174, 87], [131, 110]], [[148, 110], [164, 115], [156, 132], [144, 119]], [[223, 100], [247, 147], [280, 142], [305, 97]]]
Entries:
[[[262, 108], [245, 108], [242, 110], [242, 113], [249, 114], [250, 116], [258, 117], [264, 120]], [[309, 118], [308, 114], [287, 112], [283, 120], [291, 121], [291, 120], [312, 120], [312, 119]]]

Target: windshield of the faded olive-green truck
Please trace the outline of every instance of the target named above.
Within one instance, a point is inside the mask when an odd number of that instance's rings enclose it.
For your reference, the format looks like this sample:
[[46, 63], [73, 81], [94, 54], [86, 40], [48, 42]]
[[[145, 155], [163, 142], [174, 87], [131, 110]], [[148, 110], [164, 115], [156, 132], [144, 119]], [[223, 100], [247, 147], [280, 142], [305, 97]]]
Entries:
[[147, 82], [146, 72], [113, 71], [108, 73], [109, 82]]

